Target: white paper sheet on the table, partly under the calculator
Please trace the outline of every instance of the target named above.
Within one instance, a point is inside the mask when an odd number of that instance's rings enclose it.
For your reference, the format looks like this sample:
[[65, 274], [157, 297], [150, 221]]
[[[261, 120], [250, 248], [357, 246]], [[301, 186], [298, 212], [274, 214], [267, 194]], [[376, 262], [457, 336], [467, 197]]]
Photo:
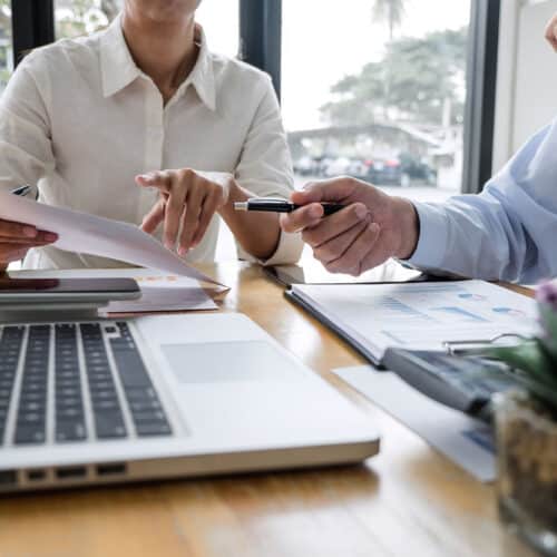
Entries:
[[492, 432], [483, 422], [429, 399], [389, 371], [362, 365], [334, 373], [478, 480], [496, 479]]

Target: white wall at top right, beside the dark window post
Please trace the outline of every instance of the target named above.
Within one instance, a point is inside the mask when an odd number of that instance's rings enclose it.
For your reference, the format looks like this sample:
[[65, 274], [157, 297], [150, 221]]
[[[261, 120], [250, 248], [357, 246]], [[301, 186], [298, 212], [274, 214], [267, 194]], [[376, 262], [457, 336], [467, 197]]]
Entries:
[[557, 0], [502, 0], [494, 172], [557, 116], [557, 53], [544, 39]]

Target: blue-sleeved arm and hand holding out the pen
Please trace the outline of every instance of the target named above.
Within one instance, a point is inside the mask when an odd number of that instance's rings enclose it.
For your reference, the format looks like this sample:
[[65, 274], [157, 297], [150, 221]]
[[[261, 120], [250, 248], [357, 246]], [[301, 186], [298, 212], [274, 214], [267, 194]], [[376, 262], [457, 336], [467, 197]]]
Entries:
[[[352, 178], [296, 192], [305, 205], [282, 216], [328, 270], [360, 274], [389, 257], [420, 268], [486, 280], [557, 276], [557, 125], [539, 131], [481, 195], [411, 204]], [[343, 211], [322, 217], [319, 202]]]

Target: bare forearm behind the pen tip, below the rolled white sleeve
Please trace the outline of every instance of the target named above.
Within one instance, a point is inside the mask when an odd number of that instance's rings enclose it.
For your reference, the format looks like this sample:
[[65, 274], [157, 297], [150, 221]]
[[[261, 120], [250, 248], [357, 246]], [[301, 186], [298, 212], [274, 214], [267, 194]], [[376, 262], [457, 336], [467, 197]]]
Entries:
[[232, 180], [227, 203], [219, 214], [231, 228], [242, 247], [258, 260], [271, 257], [281, 238], [278, 216], [274, 213], [237, 212], [234, 203], [245, 202], [254, 194]]

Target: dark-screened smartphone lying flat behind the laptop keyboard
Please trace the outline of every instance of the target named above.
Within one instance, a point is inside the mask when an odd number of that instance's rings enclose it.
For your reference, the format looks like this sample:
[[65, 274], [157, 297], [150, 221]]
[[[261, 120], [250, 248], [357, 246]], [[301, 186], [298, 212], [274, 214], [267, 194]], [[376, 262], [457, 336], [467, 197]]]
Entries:
[[0, 306], [17, 303], [137, 300], [141, 291], [133, 278], [10, 278], [0, 277]]

